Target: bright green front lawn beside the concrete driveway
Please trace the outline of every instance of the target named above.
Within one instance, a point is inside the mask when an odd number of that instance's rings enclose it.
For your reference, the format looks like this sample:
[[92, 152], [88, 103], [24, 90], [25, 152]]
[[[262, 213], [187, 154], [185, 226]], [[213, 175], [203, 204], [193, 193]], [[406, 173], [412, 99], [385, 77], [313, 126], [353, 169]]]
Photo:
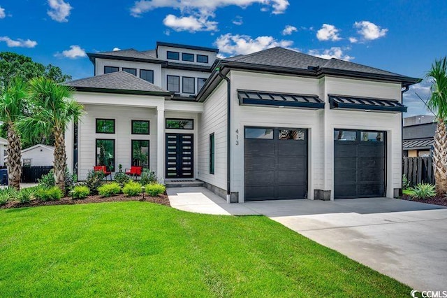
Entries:
[[147, 202], [0, 211], [2, 297], [408, 297], [263, 216]]

